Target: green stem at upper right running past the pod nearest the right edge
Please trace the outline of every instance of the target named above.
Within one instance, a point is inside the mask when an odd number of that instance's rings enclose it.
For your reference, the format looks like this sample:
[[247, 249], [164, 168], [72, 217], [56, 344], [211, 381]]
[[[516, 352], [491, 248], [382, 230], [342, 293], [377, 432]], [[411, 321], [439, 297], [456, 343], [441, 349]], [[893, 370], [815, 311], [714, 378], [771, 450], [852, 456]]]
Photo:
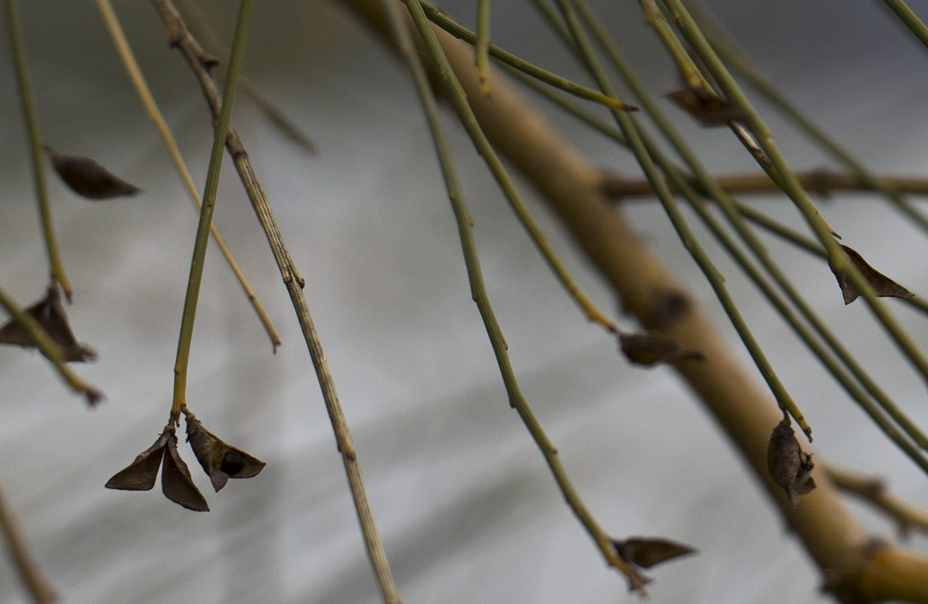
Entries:
[[793, 170], [780, 154], [780, 149], [773, 142], [773, 135], [770, 133], [767, 124], [763, 122], [760, 115], [754, 109], [750, 101], [741, 92], [741, 88], [735, 82], [734, 78], [728, 72], [728, 69], [718, 58], [709, 45], [705, 36], [700, 31], [696, 22], [690, 17], [686, 7], [680, 0], [664, 0], [666, 6], [671, 10], [674, 19], [677, 20], [677, 26], [680, 32], [687, 38], [692, 45], [693, 50], [702, 58], [706, 68], [712, 73], [715, 82], [725, 93], [729, 101], [738, 105], [744, 111], [744, 122], [748, 129], [754, 135], [757, 143], [763, 148], [764, 153], [773, 165], [773, 170], [780, 179], [780, 184], [784, 192], [793, 199], [796, 207], [806, 218], [806, 223], [812, 228], [813, 232], [821, 241], [825, 250], [828, 251], [828, 259], [832, 270], [847, 275], [851, 284], [860, 291], [864, 301], [870, 307], [870, 311], [883, 325], [889, 336], [896, 341], [896, 345], [902, 353], [909, 359], [909, 362], [922, 375], [922, 379], [928, 381], [928, 357], [919, 349], [915, 342], [909, 336], [909, 333], [899, 325], [896, 317], [889, 312], [885, 304], [881, 302], [867, 279], [860, 274], [857, 267], [847, 257], [847, 254], [832, 238], [831, 227], [828, 226], [818, 213], [818, 209], [812, 200], [809, 199], [805, 189], [799, 183]]

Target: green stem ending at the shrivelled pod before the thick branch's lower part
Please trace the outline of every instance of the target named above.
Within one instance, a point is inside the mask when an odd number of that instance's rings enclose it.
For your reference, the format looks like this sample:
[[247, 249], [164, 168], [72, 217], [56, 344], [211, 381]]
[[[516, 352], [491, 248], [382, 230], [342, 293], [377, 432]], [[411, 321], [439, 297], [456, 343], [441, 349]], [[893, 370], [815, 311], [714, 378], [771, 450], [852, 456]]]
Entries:
[[[558, 0], [557, 5], [561, 9], [561, 15], [574, 37], [574, 44], [585, 60], [587, 70], [591, 73], [597, 84], [599, 84], [599, 89], [608, 96], [617, 96], [605, 71], [603, 71], [602, 67], [599, 65], [599, 59], [596, 58], [596, 55], [590, 47], [589, 41], [586, 38], [586, 32], [583, 31], [583, 28], [576, 19], [569, 0]], [[690, 256], [699, 265], [702, 274], [705, 275], [712, 289], [715, 291], [715, 297], [722, 304], [732, 326], [738, 332], [745, 348], [747, 348], [748, 352], [751, 354], [754, 365], [757, 366], [757, 369], [760, 371], [765, 381], [767, 381], [770, 392], [776, 397], [780, 408], [795, 418], [796, 423], [798, 423], [799, 427], [806, 433], [806, 438], [811, 441], [811, 427], [806, 422], [806, 418], [803, 416], [802, 411], [799, 410], [799, 407], [793, 401], [793, 397], [786, 391], [786, 388], [780, 381], [780, 377], [773, 369], [773, 366], [770, 365], [767, 360], [767, 355], [761, 350], [760, 344], [754, 339], [751, 328], [748, 327], [747, 322], [741, 315], [741, 311], [738, 309], [738, 305], [731, 299], [728, 289], [725, 287], [725, 278], [719, 274], [718, 270], [715, 268], [715, 264], [712, 263], [705, 251], [702, 250], [699, 241], [690, 231], [690, 226], [687, 224], [686, 218], [683, 216], [683, 213], [680, 212], [677, 202], [664, 183], [664, 177], [658, 171], [658, 167], [651, 157], [651, 152], [642, 140], [634, 119], [622, 111], [612, 111], [612, 114], [616, 122], [618, 122], [619, 128], [625, 135], [625, 140], [628, 141], [629, 148], [631, 148], [632, 152], [635, 154], [638, 164], [651, 182], [651, 186], [654, 187], [655, 194], [664, 206], [664, 212], [667, 214], [670, 222], [677, 230], [680, 241], [687, 251], [690, 252]]]

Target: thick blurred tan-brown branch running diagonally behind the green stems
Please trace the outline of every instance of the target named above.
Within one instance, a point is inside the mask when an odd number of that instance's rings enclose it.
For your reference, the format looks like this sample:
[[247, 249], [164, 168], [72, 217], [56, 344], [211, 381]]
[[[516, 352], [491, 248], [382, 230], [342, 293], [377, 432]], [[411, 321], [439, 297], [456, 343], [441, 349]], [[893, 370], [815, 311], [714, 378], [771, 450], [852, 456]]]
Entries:
[[[350, 0], [347, 4], [384, 31], [378, 3]], [[767, 473], [767, 441], [782, 418], [767, 392], [741, 366], [679, 278], [612, 208], [600, 189], [599, 171], [495, 72], [490, 76], [492, 99], [483, 98], [472, 48], [445, 32], [437, 35], [483, 131], [561, 218], [577, 245], [622, 298], [625, 309], [646, 328], [705, 354], [704, 362], [677, 366], [677, 371], [779, 505], [822, 570], [826, 588], [847, 602], [894, 598], [928, 602], [928, 585], [922, 580], [928, 574], [928, 558], [871, 539], [819, 469], [813, 472], [818, 488], [793, 508]]]

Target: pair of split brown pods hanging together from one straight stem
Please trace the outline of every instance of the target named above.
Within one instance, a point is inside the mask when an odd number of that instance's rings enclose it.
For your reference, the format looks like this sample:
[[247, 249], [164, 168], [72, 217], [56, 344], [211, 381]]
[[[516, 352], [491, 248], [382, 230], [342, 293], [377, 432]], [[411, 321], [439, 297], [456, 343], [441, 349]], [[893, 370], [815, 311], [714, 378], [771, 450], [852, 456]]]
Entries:
[[[230, 478], [251, 478], [264, 469], [264, 461], [226, 444], [203, 424], [187, 408], [187, 442], [197, 456], [200, 467], [213, 482], [216, 493], [226, 486]], [[169, 423], [161, 431], [158, 440], [142, 451], [126, 468], [116, 472], [106, 483], [108, 489], [122, 491], [150, 491], [158, 480], [161, 468], [161, 493], [187, 509], [198, 512], [210, 511], [206, 498], [194, 484], [187, 463], [177, 451], [177, 436], [174, 424]]]

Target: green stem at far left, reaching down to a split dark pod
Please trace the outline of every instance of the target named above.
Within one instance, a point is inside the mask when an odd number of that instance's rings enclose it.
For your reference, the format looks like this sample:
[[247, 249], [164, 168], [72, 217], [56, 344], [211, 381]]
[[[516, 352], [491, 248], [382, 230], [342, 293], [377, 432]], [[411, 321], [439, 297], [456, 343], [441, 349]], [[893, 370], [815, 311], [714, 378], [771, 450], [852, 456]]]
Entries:
[[57, 282], [68, 302], [71, 302], [71, 282], [64, 272], [64, 265], [58, 253], [58, 239], [55, 238], [55, 226], [52, 224], [52, 209], [48, 204], [48, 191], [45, 188], [45, 168], [42, 158], [42, 132], [39, 118], [35, 111], [35, 97], [26, 64], [26, 49], [22, 40], [22, 28], [19, 25], [19, 6], [16, 0], [6, 0], [6, 27], [9, 32], [9, 45], [16, 66], [16, 82], [19, 90], [19, 102], [22, 104], [23, 116], [29, 130], [29, 143], [32, 147], [32, 177], [35, 180], [35, 199], [42, 223], [42, 236], [45, 238], [45, 251], [48, 254], [48, 271], [52, 282]]

